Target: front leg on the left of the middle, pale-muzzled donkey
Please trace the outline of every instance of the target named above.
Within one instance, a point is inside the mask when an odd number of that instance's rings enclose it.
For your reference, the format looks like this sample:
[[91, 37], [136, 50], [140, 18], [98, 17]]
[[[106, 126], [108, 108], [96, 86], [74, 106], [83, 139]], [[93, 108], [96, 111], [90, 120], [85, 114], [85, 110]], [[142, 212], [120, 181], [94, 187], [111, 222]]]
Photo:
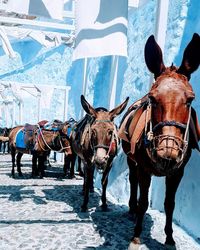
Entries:
[[82, 212], [87, 211], [87, 205], [88, 205], [88, 201], [89, 201], [89, 189], [90, 189], [91, 176], [93, 178], [93, 175], [92, 175], [92, 172], [91, 172], [91, 167], [85, 167], [84, 186], [83, 186], [84, 200], [83, 200], [83, 204], [81, 206], [81, 211]]

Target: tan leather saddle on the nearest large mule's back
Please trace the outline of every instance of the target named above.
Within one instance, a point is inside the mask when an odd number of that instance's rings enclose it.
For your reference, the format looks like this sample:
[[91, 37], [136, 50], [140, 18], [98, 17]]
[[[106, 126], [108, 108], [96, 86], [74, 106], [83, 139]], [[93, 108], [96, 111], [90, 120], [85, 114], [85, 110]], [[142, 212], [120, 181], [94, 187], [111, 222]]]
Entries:
[[120, 124], [118, 136], [131, 144], [131, 153], [134, 154], [136, 144], [139, 142], [146, 124], [150, 121], [147, 95], [133, 103]]

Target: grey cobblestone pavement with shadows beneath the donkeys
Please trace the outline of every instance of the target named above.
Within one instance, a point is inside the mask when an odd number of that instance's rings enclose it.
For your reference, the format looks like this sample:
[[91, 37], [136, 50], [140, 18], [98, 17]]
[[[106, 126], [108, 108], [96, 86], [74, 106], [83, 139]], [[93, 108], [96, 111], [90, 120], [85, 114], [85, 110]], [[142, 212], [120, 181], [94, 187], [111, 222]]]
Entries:
[[[25, 157], [25, 156], [23, 156]], [[99, 208], [99, 192], [90, 194], [89, 211], [80, 212], [82, 179], [62, 178], [54, 163], [44, 179], [31, 179], [30, 156], [23, 158], [23, 177], [10, 176], [11, 158], [0, 155], [0, 250], [125, 250], [133, 232], [127, 207], [109, 201]], [[165, 249], [165, 217], [148, 210], [140, 249]], [[176, 249], [198, 250], [200, 245], [174, 225]]]

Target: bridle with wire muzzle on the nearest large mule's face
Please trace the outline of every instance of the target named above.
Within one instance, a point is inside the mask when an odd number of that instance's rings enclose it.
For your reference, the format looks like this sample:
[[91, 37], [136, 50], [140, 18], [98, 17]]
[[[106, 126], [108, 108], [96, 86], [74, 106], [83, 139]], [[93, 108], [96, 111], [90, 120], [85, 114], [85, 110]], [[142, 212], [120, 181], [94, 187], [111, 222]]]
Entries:
[[[190, 119], [191, 119], [191, 106], [189, 107], [189, 115], [187, 119], [187, 123], [183, 124], [180, 122], [177, 122], [175, 120], [170, 121], [161, 121], [157, 123], [154, 127], [152, 125], [152, 109], [153, 105], [151, 103], [151, 100], [148, 100], [148, 106], [146, 109], [146, 124], [145, 124], [145, 146], [147, 149], [147, 153], [150, 156], [153, 163], [157, 162], [157, 159], [155, 157], [155, 152], [158, 150], [158, 145], [161, 141], [166, 140], [168, 145], [169, 140], [173, 141], [173, 147], [174, 149], [179, 150], [180, 156], [176, 159], [176, 164], [174, 168], [178, 168], [186, 155], [186, 151], [188, 148], [189, 143], [189, 125], [190, 125]], [[149, 121], [149, 124], [148, 124]], [[155, 135], [158, 129], [163, 128], [165, 126], [174, 126], [176, 128], [179, 128], [181, 130], [184, 130], [184, 137], [183, 139], [178, 136], [173, 135]], [[148, 129], [149, 127], [149, 129]], [[168, 159], [170, 161], [170, 159]]]

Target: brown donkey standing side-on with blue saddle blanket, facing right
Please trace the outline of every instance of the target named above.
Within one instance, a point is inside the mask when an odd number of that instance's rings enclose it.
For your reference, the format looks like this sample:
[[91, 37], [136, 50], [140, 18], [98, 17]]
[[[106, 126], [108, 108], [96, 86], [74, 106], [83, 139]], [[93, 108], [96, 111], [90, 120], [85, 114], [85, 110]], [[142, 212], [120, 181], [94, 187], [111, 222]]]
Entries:
[[[44, 176], [44, 161], [50, 150], [71, 154], [71, 146], [67, 136], [67, 123], [57, 123], [57, 129], [47, 129], [37, 125], [17, 126], [13, 128], [9, 134], [9, 144], [12, 157], [12, 176], [15, 175], [15, 154], [17, 154], [17, 171], [19, 176], [21, 172], [21, 157], [23, 154], [32, 154], [32, 176]], [[25, 147], [16, 145], [16, 137], [19, 132], [25, 134], [22, 138], [25, 142]], [[38, 168], [37, 168], [38, 160]]]

